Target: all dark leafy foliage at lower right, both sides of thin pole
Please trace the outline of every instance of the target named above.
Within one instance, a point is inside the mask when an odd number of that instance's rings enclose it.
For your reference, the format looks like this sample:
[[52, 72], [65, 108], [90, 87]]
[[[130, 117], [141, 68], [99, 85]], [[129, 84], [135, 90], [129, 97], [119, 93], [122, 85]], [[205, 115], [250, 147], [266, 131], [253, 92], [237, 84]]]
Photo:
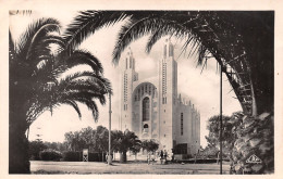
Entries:
[[[218, 128], [218, 129], [217, 129]], [[237, 174], [269, 174], [274, 171], [274, 125], [273, 115], [262, 113], [257, 117], [233, 113], [223, 117], [223, 154], [229, 156]], [[219, 116], [208, 123], [207, 155], [219, 152]], [[251, 155], [258, 156], [261, 164], [249, 164]]]

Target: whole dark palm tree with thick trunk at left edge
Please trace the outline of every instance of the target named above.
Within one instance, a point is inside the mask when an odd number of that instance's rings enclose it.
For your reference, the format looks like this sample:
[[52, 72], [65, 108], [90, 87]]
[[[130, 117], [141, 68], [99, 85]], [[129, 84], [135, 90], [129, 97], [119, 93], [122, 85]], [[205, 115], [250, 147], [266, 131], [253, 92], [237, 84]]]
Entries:
[[[70, 48], [59, 33], [60, 23], [53, 18], [30, 24], [16, 42], [9, 31], [10, 174], [29, 172], [25, 131], [41, 113], [52, 114], [54, 107], [67, 104], [81, 117], [77, 103], [83, 103], [97, 120], [94, 99], [104, 104], [104, 94], [111, 93], [100, 62], [85, 50]], [[91, 66], [93, 72], [66, 73], [79, 64]]]

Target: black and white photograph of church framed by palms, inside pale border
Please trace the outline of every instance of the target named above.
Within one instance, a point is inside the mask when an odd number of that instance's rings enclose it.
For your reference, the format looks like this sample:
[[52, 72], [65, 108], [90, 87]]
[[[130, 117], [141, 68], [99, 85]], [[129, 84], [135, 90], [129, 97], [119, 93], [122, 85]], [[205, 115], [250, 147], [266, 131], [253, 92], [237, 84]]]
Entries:
[[276, 11], [137, 8], [7, 10], [5, 175], [275, 177]]

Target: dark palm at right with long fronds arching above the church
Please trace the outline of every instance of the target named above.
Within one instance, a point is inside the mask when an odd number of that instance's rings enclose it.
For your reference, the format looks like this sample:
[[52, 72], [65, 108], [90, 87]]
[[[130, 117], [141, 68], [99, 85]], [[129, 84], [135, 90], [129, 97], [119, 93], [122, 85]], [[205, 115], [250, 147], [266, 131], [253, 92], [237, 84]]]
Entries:
[[77, 47], [97, 29], [123, 20], [126, 24], [113, 51], [115, 64], [137, 38], [151, 35], [146, 46], [149, 52], [161, 37], [174, 36], [185, 39], [183, 52], [190, 49], [189, 55], [198, 54], [199, 65], [217, 60], [246, 115], [273, 111], [274, 13], [84, 11], [67, 28], [70, 47]]

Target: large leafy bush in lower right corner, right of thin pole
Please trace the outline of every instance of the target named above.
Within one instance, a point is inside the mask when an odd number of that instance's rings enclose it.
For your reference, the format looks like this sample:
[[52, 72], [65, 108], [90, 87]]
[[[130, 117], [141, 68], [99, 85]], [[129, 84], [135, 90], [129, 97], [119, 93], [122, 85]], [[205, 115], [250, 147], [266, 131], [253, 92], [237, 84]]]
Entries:
[[[274, 116], [262, 113], [257, 117], [245, 116], [243, 126], [237, 130], [237, 140], [233, 149], [238, 174], [271, 174], [274, 172]], [[261, 164], [248, 164], [251, 155], [258, 156]]]

